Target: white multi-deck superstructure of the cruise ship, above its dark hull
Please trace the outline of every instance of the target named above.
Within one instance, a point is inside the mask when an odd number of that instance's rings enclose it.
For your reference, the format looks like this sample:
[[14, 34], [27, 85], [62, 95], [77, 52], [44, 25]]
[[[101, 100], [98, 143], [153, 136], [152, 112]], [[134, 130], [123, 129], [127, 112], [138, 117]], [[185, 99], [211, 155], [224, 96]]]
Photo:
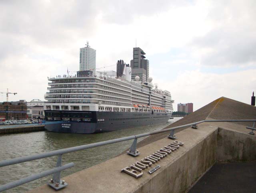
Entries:
[[170, 92], [150, 82], [125, 81], [102, 73], [49, 78], [45, 110], [172, 112]]

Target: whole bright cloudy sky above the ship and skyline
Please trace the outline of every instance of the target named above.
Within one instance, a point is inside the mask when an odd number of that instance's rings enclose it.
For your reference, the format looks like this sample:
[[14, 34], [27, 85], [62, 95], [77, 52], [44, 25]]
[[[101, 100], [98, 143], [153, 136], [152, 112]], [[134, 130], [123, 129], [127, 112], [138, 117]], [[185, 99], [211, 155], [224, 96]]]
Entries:
[[18, 93], [9, 101], [44, 100], [47, 77], [79, 70], [86, 41], [97, 68], [142, 48], [174, 111], [222, 96], [250, 104], [256, 91], [255, 0], [1, 0], [0, 10], [0, 92]]

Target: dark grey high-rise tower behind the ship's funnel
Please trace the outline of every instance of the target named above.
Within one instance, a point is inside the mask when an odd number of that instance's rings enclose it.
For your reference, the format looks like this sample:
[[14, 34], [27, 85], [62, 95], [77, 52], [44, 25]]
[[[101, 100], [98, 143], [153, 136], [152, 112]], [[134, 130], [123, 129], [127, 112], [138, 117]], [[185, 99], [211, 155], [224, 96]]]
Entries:
[[145, 59], [146, 53], [139, 47], [133, 48], [133, 59], [131, 60], [132, 80], [136, 76], [140, 77], [140, 81], [148, 81], [149, 78], [149, 61]]

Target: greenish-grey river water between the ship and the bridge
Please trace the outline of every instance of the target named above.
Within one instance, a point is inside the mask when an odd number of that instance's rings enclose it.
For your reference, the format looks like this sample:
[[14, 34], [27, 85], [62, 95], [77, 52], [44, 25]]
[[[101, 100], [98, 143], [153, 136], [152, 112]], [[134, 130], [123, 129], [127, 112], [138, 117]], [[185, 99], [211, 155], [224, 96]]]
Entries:
[[[160, 130], [172, 122], [180, 119], [174, 117], [169, 122], [158, 125], [142, 126], [137, 128], [129, 128], [120, 131], [100, 133], [100, 134], [63, 134], [53, 132], [31, 132], [22, 134], [10, 134], [0, 136], [0, 160], [17, 158], [20, 156], [28, 156], [52, 150], [91, 144], [105, 140], [131, 136], [135, 134]], [[138, 139], [138, 141], [143, 138]], [[62, 164], [74, 162], [75, 166], [61, 172], [61, 177], [70, 175], [82, 169], [86, 169], [103, 161], [114, 158], [132, 144], [132, 140], [119, 142], [107, 146], [100, 146], [79, 152], [64, 154], [62, 156]], [[39, 173], [55, 167], [57, 156], [44, 158], [40, 160], [28, 161], [16, 165], [0, 167], [0, 185], [9, 183], [14, 180], [27, 177], [34, 173]], [[26, 183], [24, 185], [5, 191], [6, 193], [22, 193], [46, 184], [51, 176]]]

